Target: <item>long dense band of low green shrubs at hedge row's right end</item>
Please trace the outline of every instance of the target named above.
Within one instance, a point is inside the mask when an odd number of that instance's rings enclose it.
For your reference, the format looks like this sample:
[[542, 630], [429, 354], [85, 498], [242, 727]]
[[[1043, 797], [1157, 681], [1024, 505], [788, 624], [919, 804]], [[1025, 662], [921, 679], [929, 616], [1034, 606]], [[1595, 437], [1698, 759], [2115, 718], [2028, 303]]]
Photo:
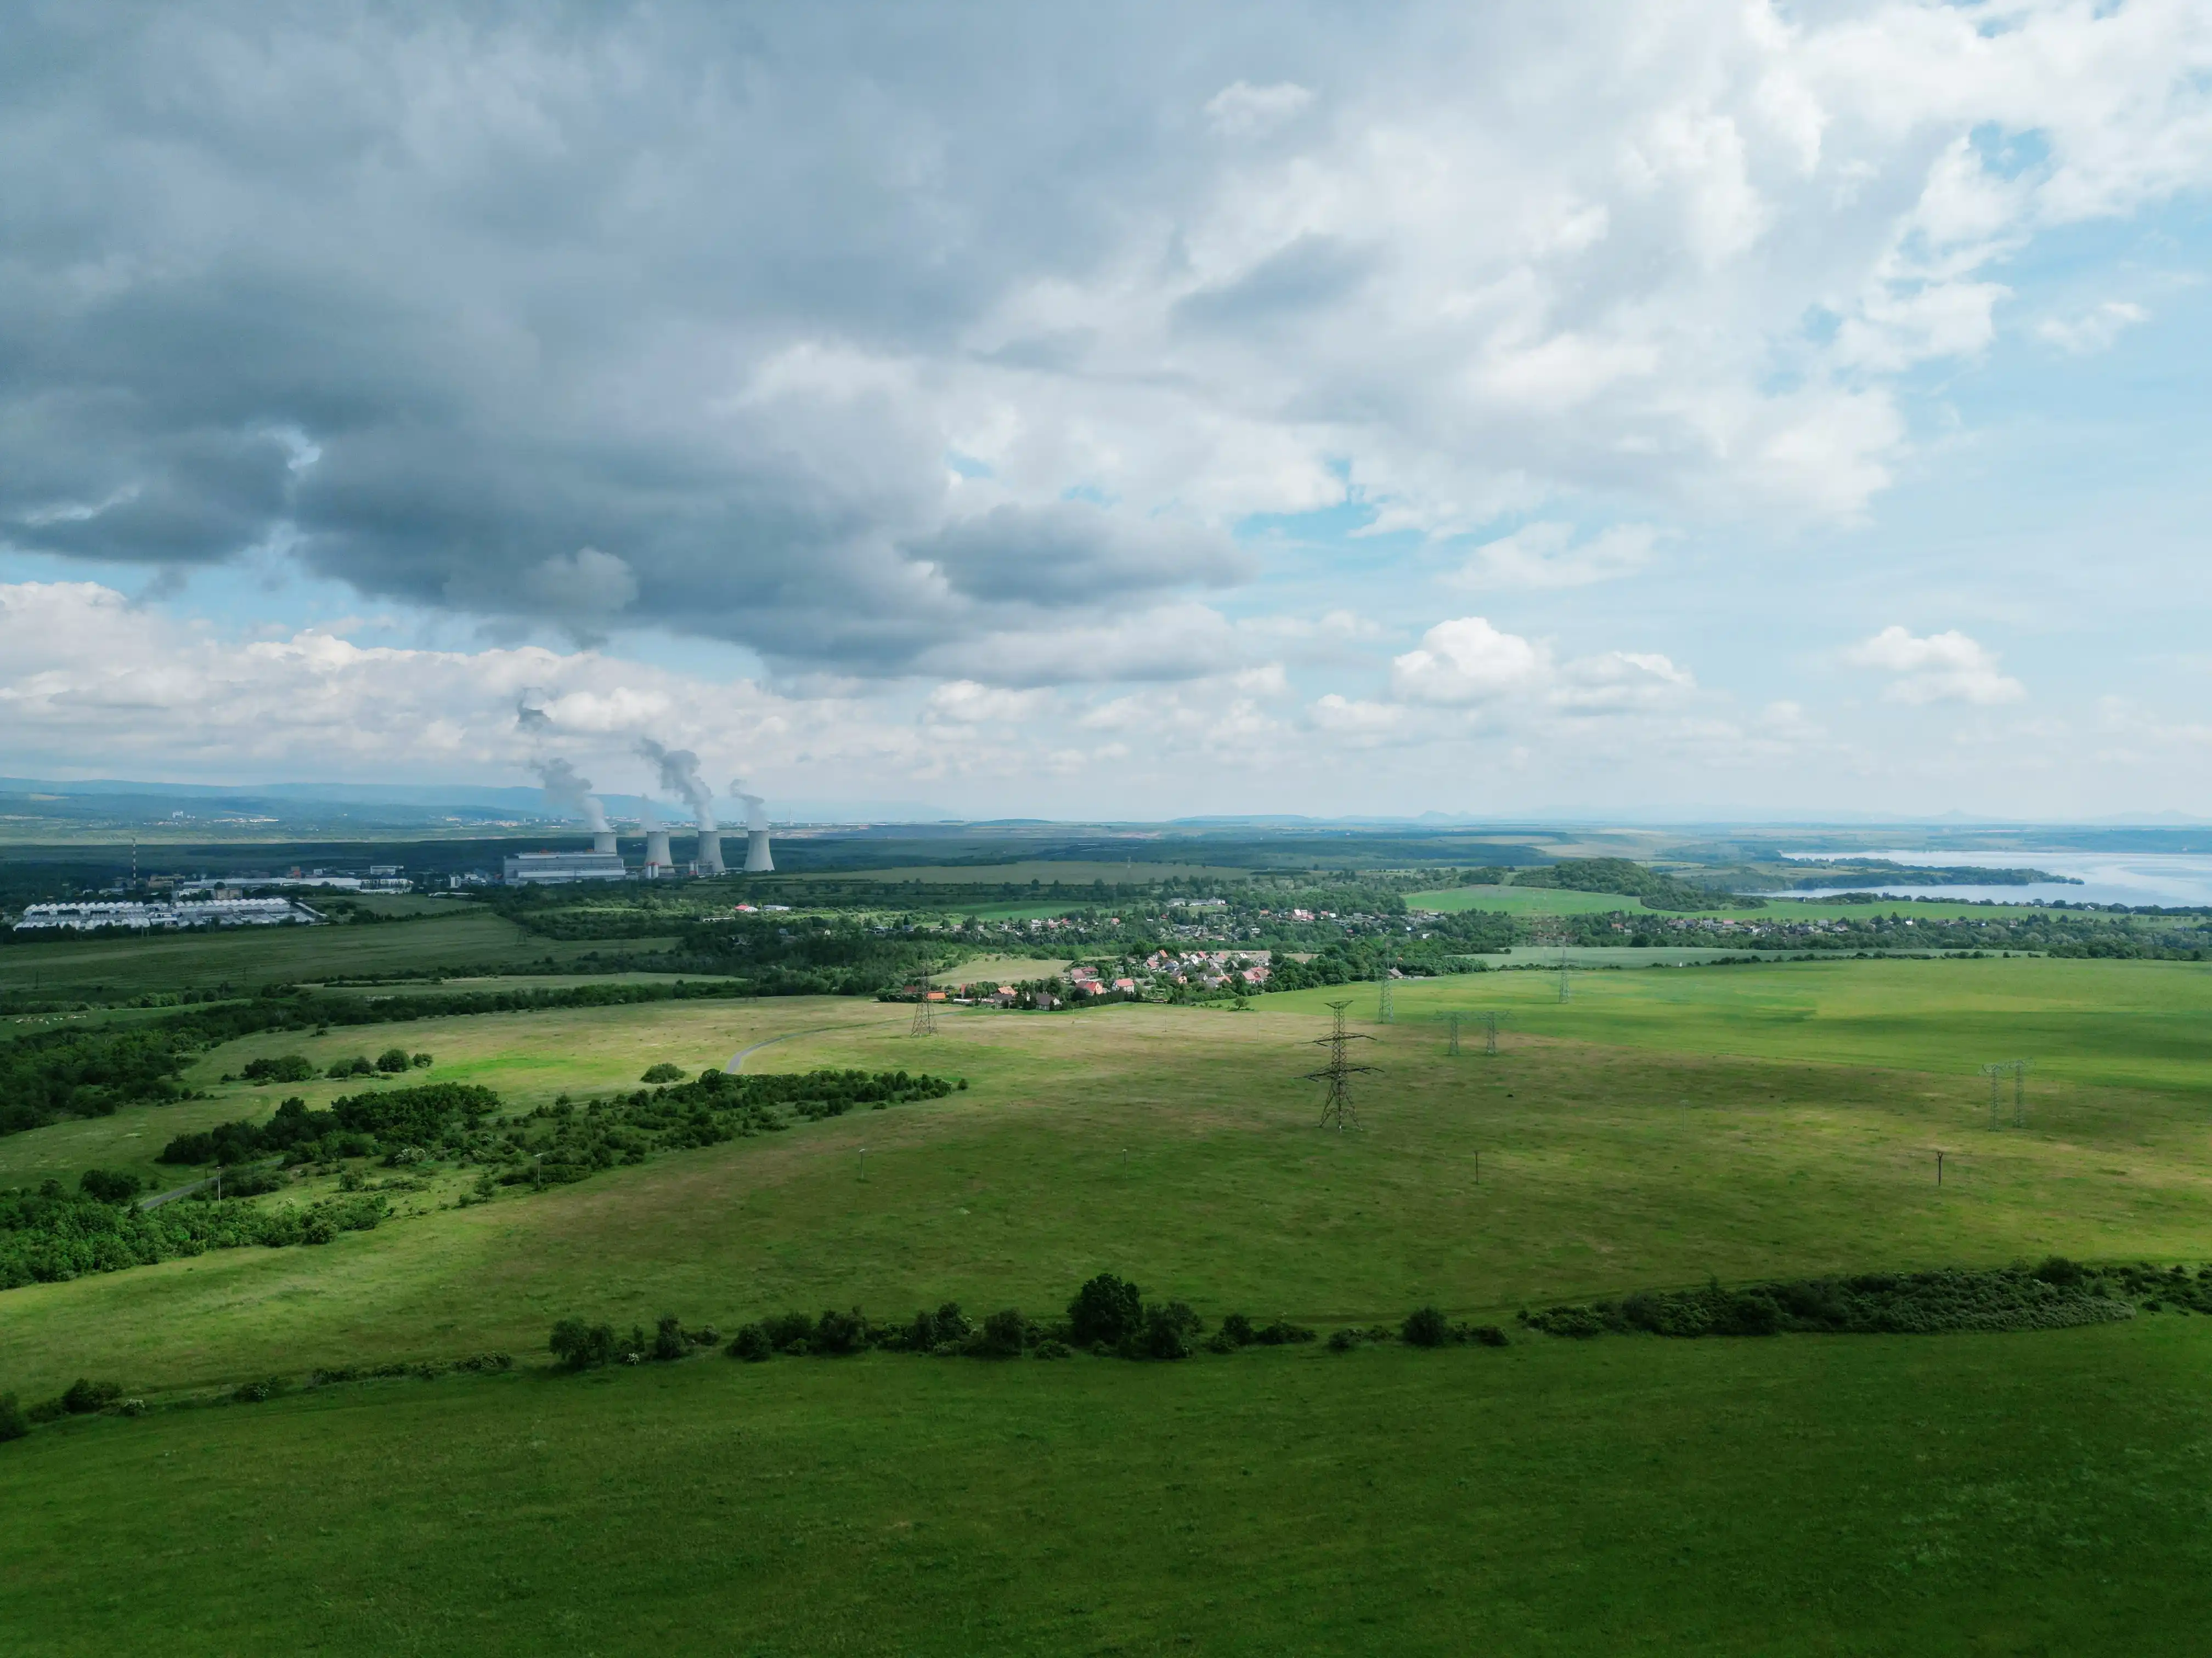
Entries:
[[[2212, 1309], [2212, 1269], [2190, 1278], [2143, 1269], [2135, 1282], [2150, 1282], [2168, 1295], [2185, 1287]], [[2106, 1324], [2132, 1318], [2132, 1289], [2124, 1269], [2090, 1271], [2053, 1256], [2039, 1267], [1944, 1267], [1927, 1273], [1860, 1273], [1858, 1278], [1794, 1278], [1770, 1284], [1723, 1289], [1652, 1291], [1542, 1311], [1522, 1311], [1520, 1322], [1544, 1335], [1781, 1335], [1785, 1331], [1832, 1335], [1922, 1335], [1938, 1331], [2048, 1331], [2073, 1324]], [[2146, 1302], [2148, 1304], [2148, 1302]], [[2190, 1300], [2194, 1307], [2197, 1302]]]

